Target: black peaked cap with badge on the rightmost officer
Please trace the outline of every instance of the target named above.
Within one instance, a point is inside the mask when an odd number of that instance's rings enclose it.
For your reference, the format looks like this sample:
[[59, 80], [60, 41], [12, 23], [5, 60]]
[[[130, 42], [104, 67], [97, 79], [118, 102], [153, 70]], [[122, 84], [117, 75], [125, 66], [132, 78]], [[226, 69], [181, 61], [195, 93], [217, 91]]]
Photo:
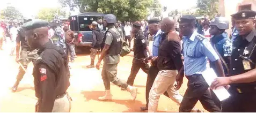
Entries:
[[247, 18], [255, 18], [256, 12], [252, 10], [242, 10], [231, 16], [236, 20], [242, 20]]

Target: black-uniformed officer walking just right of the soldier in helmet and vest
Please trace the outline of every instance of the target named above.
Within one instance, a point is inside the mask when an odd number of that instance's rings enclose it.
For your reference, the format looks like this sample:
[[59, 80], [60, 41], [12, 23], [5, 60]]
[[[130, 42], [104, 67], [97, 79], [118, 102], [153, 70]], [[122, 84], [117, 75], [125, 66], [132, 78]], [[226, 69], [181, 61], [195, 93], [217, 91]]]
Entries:
[[151, 56], [151, 51], [149, 50], [147, 39], [141, 31], [140, 22], [134, 22], [132, 33], [135, 34], [133, 46], [134, 58], [133, 65], [131, 65], [130, 76], [127, 79], [127, 84], [130, 86], [133, 86], [134, 79], [140, 69], [142, 69], [145, 73], [148, 73], [149, 65], [146, 62], [146, 58], [148, 57], [147, 51]]

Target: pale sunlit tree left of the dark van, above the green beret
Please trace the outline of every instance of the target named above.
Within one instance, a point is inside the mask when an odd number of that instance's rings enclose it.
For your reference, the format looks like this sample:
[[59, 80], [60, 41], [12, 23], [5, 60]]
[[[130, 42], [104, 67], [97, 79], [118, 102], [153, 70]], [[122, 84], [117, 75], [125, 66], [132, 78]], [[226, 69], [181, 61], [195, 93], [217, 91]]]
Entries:
[[61, 11], [60, 8], [44, 8], [39, 10], [38, 12], [38, 19], [46, 20], [46, 21], [52, 21], [55, 16], [58, 15], [58, 17], [65, 17], [65, 12]]

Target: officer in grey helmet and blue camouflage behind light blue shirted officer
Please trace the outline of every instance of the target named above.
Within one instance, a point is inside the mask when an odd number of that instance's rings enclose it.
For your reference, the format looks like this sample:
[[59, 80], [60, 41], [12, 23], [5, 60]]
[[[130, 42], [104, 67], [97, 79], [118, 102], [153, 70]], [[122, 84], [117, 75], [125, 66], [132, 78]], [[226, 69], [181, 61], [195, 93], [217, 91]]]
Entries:
[[[225, 29], [229, 28], [229, 21], [224, 17], [216, 17], [210, 21], [210, 35], [211, 35], [211, 45], [215, 49], [216, 53], [221, 59], [223, 70], [225, 76], [228, 75], [230, 56], [232, 52], [232, 42], [228, 36], [223, 36]], [[216, 70], [215, 64], [210, 62], [210, 67]], [[217, 96], [211, 92], [213, 100], [216, 105], [221, 108], [221, 102], [218, 100]]]

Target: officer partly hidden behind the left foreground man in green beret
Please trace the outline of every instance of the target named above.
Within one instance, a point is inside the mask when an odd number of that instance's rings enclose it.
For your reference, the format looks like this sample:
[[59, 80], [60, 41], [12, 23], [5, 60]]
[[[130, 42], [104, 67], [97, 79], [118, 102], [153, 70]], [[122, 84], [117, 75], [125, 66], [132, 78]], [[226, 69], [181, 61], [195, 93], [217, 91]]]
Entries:
[[[24, 22], [28, 22], [31, 21], [31, 19], [24, 19]], [[12, 91], [16, 92], [17, 88], [19, 86], [19, 82], [21, 81], [21, 79], [23, 79], [23, 76], [25, 74], [25, 70], [27, 69], [27, 65], [30, 62], [35, 61], [36, 58], [38, 58], [38, 54], [37, 54], [37, 49], [31, 49], [28, 44], [27, 41], [25, 39], [25, 31], [22, 28], [18, 29], [18, 35], [17, 35], [17, 39], [16, 39], [16, 62], [20, 62], [20, 66], [19, 66], [19, 72], [18, 75], [16, 77], [16, 82], [12, 87]], [[21, 47], [21, 52], [19, 51]], [[20, 55], [20, 56], [19, 56]], [[23, 66], [23, 67], [21, 67]]]

